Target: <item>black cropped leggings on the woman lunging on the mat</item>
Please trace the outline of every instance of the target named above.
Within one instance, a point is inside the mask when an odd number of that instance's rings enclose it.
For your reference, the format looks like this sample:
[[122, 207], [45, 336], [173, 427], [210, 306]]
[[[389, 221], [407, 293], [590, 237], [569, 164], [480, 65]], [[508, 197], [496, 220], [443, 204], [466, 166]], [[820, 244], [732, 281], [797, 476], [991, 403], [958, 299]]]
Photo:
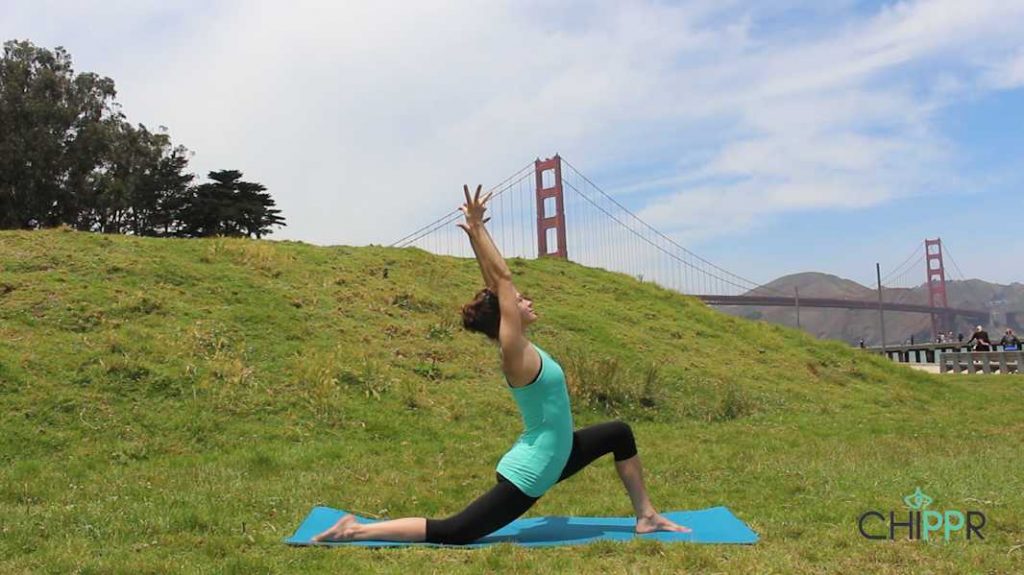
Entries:
[[[572, 451], [558, 481], [572, 477], [605, 453], [614, 453], [616, 461], [637, 454], [633, 430], [623, 422], [598, 424], [572, 433]], [[494, 533], [526, 513], [539, 497], [523, 493], [511, 481], [498, 474], [498, 485], [479, 496], [465, 510], [447, 519], [427, 520], [427, 541], [462, 545]]]

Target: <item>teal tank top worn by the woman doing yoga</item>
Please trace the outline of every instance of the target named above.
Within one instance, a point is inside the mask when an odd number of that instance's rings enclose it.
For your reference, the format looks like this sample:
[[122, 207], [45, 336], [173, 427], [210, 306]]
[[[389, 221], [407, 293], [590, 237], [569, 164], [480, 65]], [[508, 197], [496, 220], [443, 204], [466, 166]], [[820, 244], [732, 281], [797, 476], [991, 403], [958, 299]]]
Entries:
[[540, 497], [558, 482], [569, 458], [572, 411], [561, 365], [540, 347], [534, 348], [541, 354], [540, 375], [528, 386], [509, 388], [525, 429], [498, 462], [498, 473], [523, 493]]

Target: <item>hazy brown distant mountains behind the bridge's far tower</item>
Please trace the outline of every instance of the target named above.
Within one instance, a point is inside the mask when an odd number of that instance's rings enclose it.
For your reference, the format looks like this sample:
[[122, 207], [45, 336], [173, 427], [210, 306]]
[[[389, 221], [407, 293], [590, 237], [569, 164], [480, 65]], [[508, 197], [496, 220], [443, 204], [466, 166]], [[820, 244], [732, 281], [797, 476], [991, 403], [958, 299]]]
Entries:
[[[795, 289], [799, 289], [801, 298], [878, 301], [878, 292], [873, 288], [827, 273], [795, 273], [779, 277], [765, 286], [782, 294], [794, 294]], [[759, 290], [757, 294], [764, 295], [764, 291]], [[887, 302], [927, 305], [928, 286], [922, 284], [912, 289], [885, 289], [883, 297]], [[947, 281], [946, 298], [949, 307], [989, 311], [991, 319], [985, 327], [994, 338], [1002, 334], [1008, 320], [1009, 326], [1015, 330], [1022, 329], [1020, 323], [1024, 322], [1024, 283], [1000, 285], [981, 279]], [[790, 326], [797, 324], [796, 309], [792, 307], [717, 307], [726, 313], [749, 319], [763, 319]], [[1013, 312], [1017, 312], [1016, 316]], [[1008, 313], [1011, 314], [1009, 317]], [[969, 337], [974, 325], [962, 319], [957, 321], [954, 333]], [[877, 311], [801, 308], [800, 324], [803, 329], [822, 339], [854, 344], [863, 338], [867, 345], [878, 345], [882, 340]], [[932, 338], [932, 319], [929, 315], [886, 312], [886, 340], [889, 343], [904, 342], [911, 337], [915, 342], [927, 342]]]

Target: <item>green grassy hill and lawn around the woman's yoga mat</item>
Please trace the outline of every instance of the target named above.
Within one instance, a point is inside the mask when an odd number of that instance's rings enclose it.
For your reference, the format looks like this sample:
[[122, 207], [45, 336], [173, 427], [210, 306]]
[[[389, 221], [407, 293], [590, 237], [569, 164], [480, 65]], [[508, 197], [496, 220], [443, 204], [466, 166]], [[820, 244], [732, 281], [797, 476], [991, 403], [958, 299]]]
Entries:
[[[457, 311], [473, 261], [417, 250], [0, 232], [0, 572], [1020, 572], [1021, 378], [914, 372], [621, 274], [512, 260], [578, 426], [636, 432], [654, 503], [754, 546], [290, 548], [314, 504], [442, 516], [520, 431]], [[856, 520], [979, 510], [982, 541]], [[610, 459], [530, 515], [630, 513]]]

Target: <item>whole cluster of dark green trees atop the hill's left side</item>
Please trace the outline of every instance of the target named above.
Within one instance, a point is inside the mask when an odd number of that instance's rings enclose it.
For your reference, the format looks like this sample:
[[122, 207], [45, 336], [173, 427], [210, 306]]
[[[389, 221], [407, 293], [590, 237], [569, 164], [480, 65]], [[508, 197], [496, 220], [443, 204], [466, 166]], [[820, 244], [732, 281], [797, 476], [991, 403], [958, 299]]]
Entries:
[[261, 237], [284, 226], [242, 172], [197, 183], [167, 130], [133, 125], [114, 81], [76, 74], [62, 47], [7, 41], [0, 59], [0, 229], [68, 225], [134, 235]]

